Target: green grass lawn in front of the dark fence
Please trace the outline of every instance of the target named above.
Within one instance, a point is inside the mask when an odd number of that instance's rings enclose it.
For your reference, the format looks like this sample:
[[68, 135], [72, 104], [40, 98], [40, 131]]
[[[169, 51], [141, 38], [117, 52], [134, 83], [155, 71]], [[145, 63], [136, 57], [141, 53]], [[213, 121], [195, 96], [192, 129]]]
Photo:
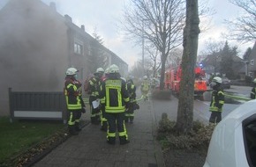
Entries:
[[0, 117], [0, 166], [63, 128], [63, 121], [14, 120], [11, 123], [8, 117]]

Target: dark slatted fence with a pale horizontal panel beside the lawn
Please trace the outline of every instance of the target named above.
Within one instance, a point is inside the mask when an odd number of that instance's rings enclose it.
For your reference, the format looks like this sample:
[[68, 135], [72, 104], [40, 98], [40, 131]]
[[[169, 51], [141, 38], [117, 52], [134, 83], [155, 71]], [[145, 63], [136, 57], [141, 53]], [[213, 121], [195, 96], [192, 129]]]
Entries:
[[11, 91], [9, 88], [11, 121], [64, 120], [67, 121], [64, 93], [61, 92], [25, 92]]

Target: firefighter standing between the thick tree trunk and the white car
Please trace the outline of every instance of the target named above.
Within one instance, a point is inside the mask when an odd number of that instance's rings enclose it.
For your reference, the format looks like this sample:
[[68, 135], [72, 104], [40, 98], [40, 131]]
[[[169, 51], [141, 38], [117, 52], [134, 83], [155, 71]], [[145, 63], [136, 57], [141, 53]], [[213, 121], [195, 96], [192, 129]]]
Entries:
[[213, 88], [212, 99], [209, 111], [211, 117], [210, 124], [217, 124], [222, 120], [222, 106], [224, 105], [224, 92], [222, 90], [222, 78], [215, 76], [210, 86]]

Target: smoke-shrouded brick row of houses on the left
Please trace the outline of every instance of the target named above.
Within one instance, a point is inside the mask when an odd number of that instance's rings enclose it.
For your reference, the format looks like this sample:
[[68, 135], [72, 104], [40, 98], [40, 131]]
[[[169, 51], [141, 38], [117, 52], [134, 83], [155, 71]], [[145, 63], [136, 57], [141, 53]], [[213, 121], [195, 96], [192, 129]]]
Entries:
[[[63, 91], [65, 71], [79, 69], [84, 81], [92, 68], [95, 40], [56, 11], [55, 4], [40, 0], [10, 0], [0, 10], [0, 115], [9, 113], [8, 88], [12, 91]], [[121, 75], [128, 65], [117, 54], [98, 45], [106, 67], [117, 63]], [[114, 61], [115, 60], [115, 61]], [[116, 62], [117, 60], [117, 62]], [[123, 73], [122, 73], [123, 72]]]

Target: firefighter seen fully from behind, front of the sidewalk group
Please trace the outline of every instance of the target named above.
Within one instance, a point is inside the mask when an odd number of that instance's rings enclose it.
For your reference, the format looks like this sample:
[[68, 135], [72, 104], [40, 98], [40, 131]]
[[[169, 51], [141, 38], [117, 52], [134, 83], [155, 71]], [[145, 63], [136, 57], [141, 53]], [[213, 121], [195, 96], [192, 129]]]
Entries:
[[101, 86], [100, 98], [102, 110], [108, 120], [107, 142], [113, 145], [116, 143], [117, 129], [120, 144], [129, 143], [124, 124], [124, 111], [129, 107], [129, 94], [116, 64], [109, 67], [108, 78]]

